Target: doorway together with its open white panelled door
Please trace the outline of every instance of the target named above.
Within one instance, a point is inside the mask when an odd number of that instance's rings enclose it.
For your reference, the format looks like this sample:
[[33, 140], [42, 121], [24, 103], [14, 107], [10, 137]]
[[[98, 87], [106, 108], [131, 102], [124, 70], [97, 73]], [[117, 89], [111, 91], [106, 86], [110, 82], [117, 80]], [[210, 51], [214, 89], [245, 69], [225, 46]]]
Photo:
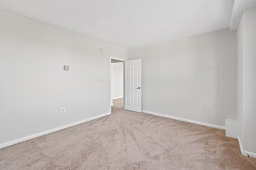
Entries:
[[110, 113], [115, 100], [118, 109], [141, 113], [141, 63], [110, 57]]

